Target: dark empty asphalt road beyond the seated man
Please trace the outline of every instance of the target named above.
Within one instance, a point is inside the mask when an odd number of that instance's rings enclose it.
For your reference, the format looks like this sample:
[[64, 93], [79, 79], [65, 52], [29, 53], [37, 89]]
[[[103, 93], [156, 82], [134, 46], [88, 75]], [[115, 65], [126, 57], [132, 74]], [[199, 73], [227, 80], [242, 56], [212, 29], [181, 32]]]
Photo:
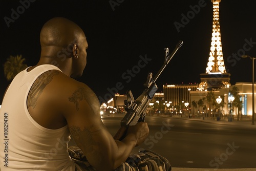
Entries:
[[[112, 135], [123, 116], [102, 117]], [[151, 149], [166, 157], [172, 167], [256, 168], [256, 125], [249, 121], [146, 116], [146, 122], [150, 135], [133, 153]]]

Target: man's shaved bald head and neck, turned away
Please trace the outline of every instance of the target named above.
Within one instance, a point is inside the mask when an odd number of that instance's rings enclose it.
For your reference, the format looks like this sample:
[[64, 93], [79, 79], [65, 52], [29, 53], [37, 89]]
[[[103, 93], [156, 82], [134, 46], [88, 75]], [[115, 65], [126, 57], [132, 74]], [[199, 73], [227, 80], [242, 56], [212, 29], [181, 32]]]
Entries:
[[38, 65], [57, 66], [68, 76], [80, 76], [86, 66], [88, 43], [82, 29], [69, 19], [55, 17], [40, 32]]

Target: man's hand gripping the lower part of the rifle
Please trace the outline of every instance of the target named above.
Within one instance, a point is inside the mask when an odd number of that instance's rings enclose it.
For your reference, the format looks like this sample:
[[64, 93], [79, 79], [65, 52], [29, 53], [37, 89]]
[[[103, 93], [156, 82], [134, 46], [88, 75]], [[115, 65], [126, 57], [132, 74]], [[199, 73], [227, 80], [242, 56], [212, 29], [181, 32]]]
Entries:
[[135, 135], [136, 146], [144, 142], [150, 130], [148, 129], [146, 122], [138, 122], [136, 125], [129, 126], [126, 136], [130, 134]]

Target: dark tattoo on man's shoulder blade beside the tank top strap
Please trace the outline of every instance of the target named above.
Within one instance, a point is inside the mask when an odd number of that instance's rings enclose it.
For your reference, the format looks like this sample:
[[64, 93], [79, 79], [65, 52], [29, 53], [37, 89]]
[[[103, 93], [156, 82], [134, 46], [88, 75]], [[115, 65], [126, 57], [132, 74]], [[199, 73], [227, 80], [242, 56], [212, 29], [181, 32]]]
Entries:
[[28, 108], [30, 106], [33, 107], [33, 109], [36, 106], [36, 101], [37, 99], [40, 97], [42, 91], [45, 89], [45, 87], [47, 86], [47, 84], [49, 84], [52, 79], [53, 76], [59, 74], [57, 71], [55, 70], [50, 70], [47, 71], [45, 73], [42, 73], [33, 83], [29, 95], [28, 95], [28, 99], [27, 99], [27, 106]]

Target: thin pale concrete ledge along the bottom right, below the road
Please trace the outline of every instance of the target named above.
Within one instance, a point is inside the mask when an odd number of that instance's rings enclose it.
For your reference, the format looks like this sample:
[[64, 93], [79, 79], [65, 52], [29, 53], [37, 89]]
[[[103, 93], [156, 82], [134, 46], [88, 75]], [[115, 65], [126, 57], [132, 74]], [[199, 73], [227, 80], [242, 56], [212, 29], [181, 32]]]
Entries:
[[256, 171], [256, 168], [183, 168], [172, 167], [172, 171]]

